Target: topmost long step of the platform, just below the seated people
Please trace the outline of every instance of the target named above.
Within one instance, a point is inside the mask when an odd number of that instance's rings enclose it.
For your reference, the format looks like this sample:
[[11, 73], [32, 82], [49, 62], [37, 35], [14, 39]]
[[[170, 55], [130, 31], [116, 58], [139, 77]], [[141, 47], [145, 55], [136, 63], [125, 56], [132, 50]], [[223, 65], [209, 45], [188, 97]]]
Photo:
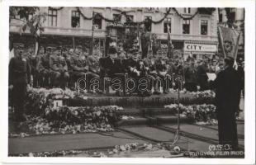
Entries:
[[[159, 107], [178, 102], [178, 95], [176, 93], [168, 93], [165, 95], [153, 95], [150, 97], [85, 97], [73, 98], [67, 101], [67, 106], [122, 106], [122, 107]], [[212, 104], [211, 98], [197, 98], [190, 94], [182, 94], [180, 96], [180, 103], [188, 104]]]

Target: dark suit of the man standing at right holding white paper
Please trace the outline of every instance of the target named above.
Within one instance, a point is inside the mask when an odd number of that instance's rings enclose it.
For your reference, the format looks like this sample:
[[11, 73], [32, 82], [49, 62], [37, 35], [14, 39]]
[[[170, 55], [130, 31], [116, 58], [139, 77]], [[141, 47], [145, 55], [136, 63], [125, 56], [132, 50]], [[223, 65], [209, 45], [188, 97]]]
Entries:
[[235, 112], [239, 108], [239, 74], [232, 68], [220, 71], [210, 87], [216, 88], [216, 114], [218, 119], [219, 143], [238, 144]]

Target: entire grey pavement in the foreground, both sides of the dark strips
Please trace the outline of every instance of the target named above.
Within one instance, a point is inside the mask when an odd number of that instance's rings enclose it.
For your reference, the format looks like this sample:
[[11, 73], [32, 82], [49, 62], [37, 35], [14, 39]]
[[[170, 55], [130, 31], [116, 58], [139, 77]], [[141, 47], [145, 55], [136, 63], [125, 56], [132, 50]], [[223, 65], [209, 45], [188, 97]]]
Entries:
[[[164, 125], [176, 128], [177, 125]], [[244, 134], [243, 124], [239, 124], [239, 134]], [[217, 130], [209, 129], [197, 125], [181, 125], [183, 131], [198, 134], [206, 138], [217, 139]], [[172, 144], [174, 134], [165, 130], [159, 130], [147, 125], [123, 126], [121, 130], [128, 130], [131, 133], [142, 135], [145, 138], [155, 139], [160, 142]], [[44, 152], [54, 150], [69, 149], [103, 149], [112, 148], [115, 145], [129, 143], [149, 143], [146, 139], [140, 139], [133, 134], [123, 131], [111, 133], [85, 133], [85, 134], [55, 134], [31, 136], [26, 138], [9, 138], [9, 154]], [[244, 145], [243, 139], [239, 139], [239, 144]], [[197, 139], [182, 136], [178, 145], [186, 150], [207, 151], [210, 143]]]

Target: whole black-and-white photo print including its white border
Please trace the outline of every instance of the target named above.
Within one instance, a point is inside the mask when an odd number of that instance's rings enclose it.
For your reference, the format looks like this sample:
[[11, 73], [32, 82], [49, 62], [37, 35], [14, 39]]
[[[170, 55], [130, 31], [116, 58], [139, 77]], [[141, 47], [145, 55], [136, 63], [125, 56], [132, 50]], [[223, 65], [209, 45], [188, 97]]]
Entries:
[[247, 157], [249, 8], [56, 2], [5, 6], [7, 158]]

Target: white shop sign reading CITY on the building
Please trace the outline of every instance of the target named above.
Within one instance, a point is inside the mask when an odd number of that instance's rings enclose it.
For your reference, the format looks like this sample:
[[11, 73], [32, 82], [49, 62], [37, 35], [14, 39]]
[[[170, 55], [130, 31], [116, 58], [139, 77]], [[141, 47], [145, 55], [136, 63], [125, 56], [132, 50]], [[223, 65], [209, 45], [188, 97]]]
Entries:
[[217, 52], [217, 45], [184, 44], [185, 51]]

